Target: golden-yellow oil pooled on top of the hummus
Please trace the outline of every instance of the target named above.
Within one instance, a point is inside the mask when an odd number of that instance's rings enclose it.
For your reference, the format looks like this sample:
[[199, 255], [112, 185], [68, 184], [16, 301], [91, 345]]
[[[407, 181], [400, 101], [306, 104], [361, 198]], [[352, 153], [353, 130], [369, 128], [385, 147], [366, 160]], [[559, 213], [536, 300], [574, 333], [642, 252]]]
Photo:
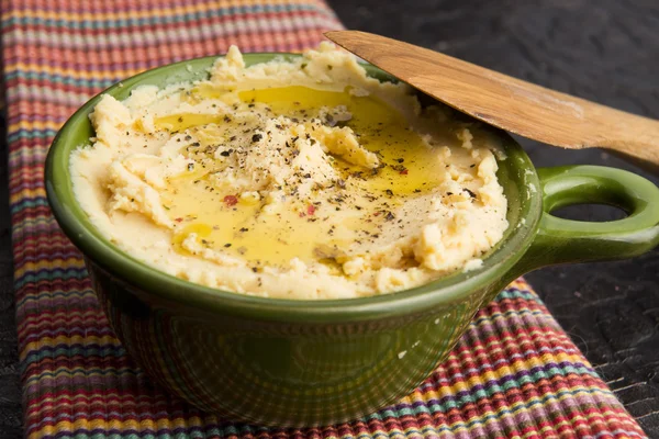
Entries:
[[[204, 87], [197, 89], [197, 98], [219, 99], [222, 93]], [[376, 203], [368, 195], [381, 196], [387, 190], [392, 204], [400, 204], [407, 196], [418, 196], [431, 191], [444, 175], [444, 164], [437, 149], [428, 147], [405, 117], [395, 109], [375, 97], [357, 97], [349, 91], [315, 90], [306, 87], [284, 87], [261, 90], [244, 90], [238, 98], [245, 104], [266, 104], [275, 115], [309, 120], [323, 106], [345, 105], [353, 117], [347, 125], [359, 135], [359, 142], [377, 153], [382, 164], [372, 170], [347, 164], [337, 158], [337, 167], [345, 179], [355, 172], [362, 178], [350, 180], [353, 193], [364, 201], [360, 210], [346, 206], [340, 213], [335, 207], [322, 205], [309, 214], [308, 205], [281, 204], [275, 214], [263, 214], [263, 201], [248, 202], [239, 194], [213, 188], [199, 170], [183, 172], [170, 179], [163, 200], [170, 217], [180, 224], [174, 236], [175, 247], [185, 251], [182, 241], [190, 233], [197, 234], [203, 245], [228, 256], [241, 257], [260, 267], [286, 266], [292, 258], [303, 261], [334, 261], [347, 250], [350, 243], [366, 233], [377, 233], [383, 219], [375, 216]], [[181, 132], [206, 124], [223, 124], [224, 115], [181, 114], [161, 117], [157, 122], [170, 131]], [[230, 122], [231, 123], [231, 122]], [[389, 166], [391, 165], [391, 166]], [[393, 196], [391, 196], [393, 193]], [[238, 203], [230, 205], [225, 198], [238, 195]], [[340, 215], [340, 224], [332, 233], [322, 218]], [[315, 221], [312, 221], [314, 219]], [[319, 250], [320, 249], [320, 250]], [[331, 263], [332, 266], [332, 263]]]

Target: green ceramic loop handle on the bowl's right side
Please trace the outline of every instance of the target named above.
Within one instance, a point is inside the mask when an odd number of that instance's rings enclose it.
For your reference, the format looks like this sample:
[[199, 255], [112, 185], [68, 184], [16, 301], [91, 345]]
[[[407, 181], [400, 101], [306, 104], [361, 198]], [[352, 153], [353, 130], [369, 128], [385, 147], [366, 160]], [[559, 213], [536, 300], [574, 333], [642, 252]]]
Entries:
[[[538, 177], [544, 209], [538, 233], [511, 273], [520, 275], [557, 263], [632, 258], [659, 244], [659, 188], [649, 180], [600, 166], [540, 168]], [[594, 223], [551, 215], [555, 209], [587, 203], [621, 207], [627, 217]]]

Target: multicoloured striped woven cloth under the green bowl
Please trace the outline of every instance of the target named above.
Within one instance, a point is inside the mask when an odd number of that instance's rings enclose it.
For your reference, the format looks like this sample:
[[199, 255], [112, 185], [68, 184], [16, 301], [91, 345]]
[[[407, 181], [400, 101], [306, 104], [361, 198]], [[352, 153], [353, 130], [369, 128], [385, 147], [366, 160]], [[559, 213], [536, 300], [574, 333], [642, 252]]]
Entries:
[[297, 50], [340, 24], [322, 0], [0, 1], [27, 437], [645, 437], [523, 281], [478, 314], [416, 392], [350, 425], [233, 425], [152, 385], [113, 337], [80, 255], [48, 212], [43, 165], [53, 136], [121, 78], [231, 43]]

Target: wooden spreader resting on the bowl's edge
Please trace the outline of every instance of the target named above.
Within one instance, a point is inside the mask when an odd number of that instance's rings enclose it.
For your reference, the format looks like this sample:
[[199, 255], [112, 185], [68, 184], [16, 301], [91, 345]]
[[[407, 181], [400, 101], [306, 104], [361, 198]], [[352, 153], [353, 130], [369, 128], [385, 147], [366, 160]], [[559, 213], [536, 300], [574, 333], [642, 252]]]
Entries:
[[659, 171], [659, 122], [533, 85], [412, 44], [358, 31], [327, 38], [485, 123], [549, 145], [602, 147]]

